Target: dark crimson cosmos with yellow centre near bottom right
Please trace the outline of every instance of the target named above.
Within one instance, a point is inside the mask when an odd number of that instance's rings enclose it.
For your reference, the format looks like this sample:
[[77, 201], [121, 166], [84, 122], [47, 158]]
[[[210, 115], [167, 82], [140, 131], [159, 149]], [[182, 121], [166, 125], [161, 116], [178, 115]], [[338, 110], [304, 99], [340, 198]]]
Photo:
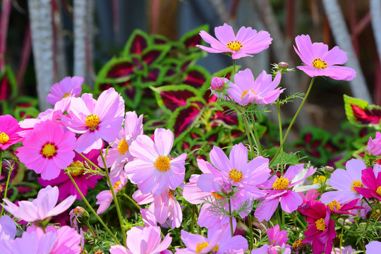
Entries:
[[320, 201], [310, 201], [306, 207], [298, 211], [306, 215], [308, 222], [308, 228], [304, 232], [306, 238], [302, 242], [312, 244], [313, 254], [331, 253], [336, 231], [334, 220], [330, 219], [329, 208]]

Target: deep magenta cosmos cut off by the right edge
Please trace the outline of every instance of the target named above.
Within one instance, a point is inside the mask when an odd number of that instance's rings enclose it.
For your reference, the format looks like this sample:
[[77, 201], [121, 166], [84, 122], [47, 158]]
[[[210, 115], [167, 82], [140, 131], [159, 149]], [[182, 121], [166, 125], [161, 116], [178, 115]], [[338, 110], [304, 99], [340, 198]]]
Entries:
[[363, 185], [366, 188], [355, 187], [355, 190], [365, 198], [377, 198], [377, 200], [381, 201], [381, 172], [376, 177], [373, 169], [364, 169], [361, 181], [363, 181]]

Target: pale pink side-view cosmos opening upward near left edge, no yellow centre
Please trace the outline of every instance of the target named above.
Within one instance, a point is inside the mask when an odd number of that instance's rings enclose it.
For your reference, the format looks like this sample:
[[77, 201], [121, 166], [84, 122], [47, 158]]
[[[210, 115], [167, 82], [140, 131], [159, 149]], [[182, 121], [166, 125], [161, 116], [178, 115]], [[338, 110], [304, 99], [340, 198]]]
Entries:
[[23, 219], [25, 222], [37, 222], [64, 212], [75, 200], [75, 196], [71, 195], [56, 205], [58, 196], [57, 186], [47, 186], [38, 192], [37, 198], [32, 202], [23, 200], [18, 202], [19, 206], [17, 206], [8, 199], [4, 199], [6, 205], [1, 205], [18, 219]]

